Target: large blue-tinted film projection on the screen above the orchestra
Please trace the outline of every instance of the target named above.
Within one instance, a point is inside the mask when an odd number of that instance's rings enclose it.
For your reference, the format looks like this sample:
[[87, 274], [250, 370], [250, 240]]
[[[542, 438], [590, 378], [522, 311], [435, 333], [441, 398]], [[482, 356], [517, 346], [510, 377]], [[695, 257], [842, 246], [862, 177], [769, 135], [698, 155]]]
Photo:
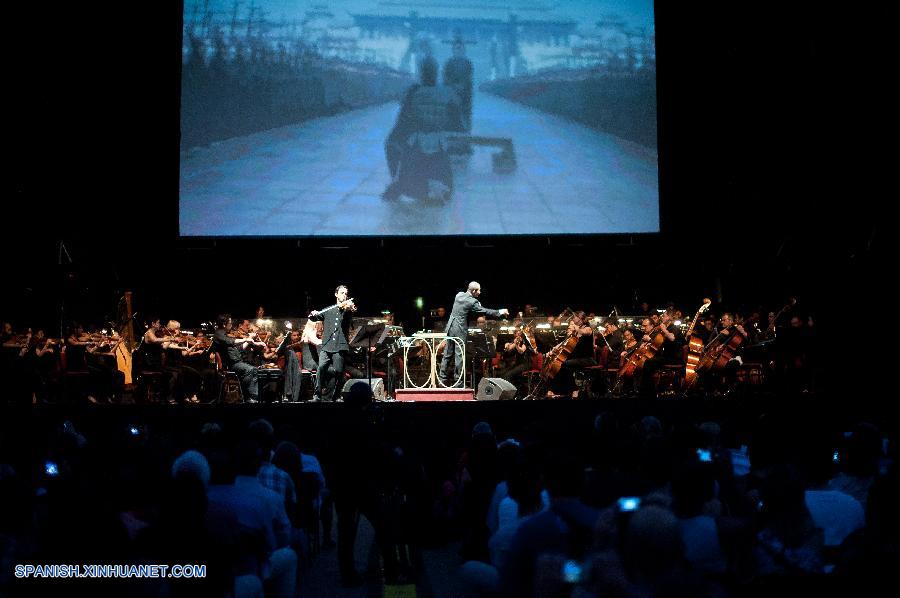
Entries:
[[184, 236], [659, 230], [652, 0], [185, 0]]

